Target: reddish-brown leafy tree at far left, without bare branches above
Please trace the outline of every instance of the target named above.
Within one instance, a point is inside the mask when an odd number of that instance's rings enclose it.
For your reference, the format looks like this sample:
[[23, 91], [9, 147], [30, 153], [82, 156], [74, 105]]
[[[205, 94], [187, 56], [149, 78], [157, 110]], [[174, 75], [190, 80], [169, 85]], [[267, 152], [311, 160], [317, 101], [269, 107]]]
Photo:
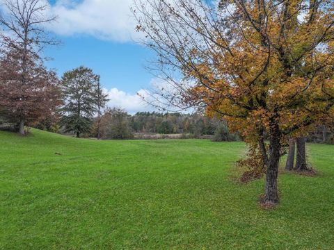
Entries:
[[29, 74], [23, 84], [20, 57], [21, 53], [12, 49], [0, 60], [0, 106], [2, 115], [19, 124], [19, 133], [24, 135], [24, 125], [58, 118], [61, 91], [55, 72], [42, 64], [36, 65], [29, 57], [26, 58]]

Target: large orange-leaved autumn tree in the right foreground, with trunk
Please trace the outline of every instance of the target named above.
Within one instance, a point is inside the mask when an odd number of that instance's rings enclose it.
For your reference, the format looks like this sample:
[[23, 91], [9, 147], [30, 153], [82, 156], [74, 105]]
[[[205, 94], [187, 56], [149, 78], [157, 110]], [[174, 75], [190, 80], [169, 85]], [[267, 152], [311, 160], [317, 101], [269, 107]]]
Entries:
[[333, 1], [135, 2], [137, 30], [169, 86], [158, 86], [148, 101], [202, 106], [226, 119], [263, 164], [263, 203], [278, 203], [288, 138], [333, 117]]

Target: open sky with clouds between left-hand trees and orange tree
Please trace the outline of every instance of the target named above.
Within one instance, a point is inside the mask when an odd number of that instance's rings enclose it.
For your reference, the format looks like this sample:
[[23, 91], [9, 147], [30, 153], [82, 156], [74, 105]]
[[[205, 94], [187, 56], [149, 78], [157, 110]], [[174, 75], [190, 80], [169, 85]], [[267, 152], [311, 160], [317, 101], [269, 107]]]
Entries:
[[51, 12], [58, 16], [49, 26], [62, 41], [48, 48], [53, 58], [47, 65], [58, 75], [84, 65], [101, 75], [109, 92], [109, 106], [129, 113], [152, 110], [137, 96], [155, 81], [144, 66], [153, 54], [136, 43], [141, 34], [129, 6], [132, 0], [50, 0]]

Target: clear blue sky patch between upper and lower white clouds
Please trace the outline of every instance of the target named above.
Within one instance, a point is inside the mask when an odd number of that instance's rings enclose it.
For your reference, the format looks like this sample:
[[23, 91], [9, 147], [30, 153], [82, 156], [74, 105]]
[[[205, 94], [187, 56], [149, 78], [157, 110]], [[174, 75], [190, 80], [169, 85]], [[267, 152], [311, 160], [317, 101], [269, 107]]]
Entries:
[[100, 40], [89, 35], [58, 35], [58, 38], [62, 44], [48, 47], [45, 54], [53, 58], [47, 66], [56, 69], [59, 76], [84, 65], [100, 74], [104, 88], [129, 93], [148, 88], [152, 74], [145, 65], [154, 55], [140, 44]]

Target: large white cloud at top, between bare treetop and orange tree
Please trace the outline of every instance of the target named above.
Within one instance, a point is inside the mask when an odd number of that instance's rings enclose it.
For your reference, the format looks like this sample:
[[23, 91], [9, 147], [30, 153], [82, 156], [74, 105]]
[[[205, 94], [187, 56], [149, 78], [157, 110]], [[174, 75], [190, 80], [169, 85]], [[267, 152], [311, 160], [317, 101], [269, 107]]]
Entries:
[[51, 13], [58, 16], [49, 29], [58, 35], [93, 35], [104, 40], [127, 42], [141, 37], [135, 31], [132, 0], [58, 0]]

